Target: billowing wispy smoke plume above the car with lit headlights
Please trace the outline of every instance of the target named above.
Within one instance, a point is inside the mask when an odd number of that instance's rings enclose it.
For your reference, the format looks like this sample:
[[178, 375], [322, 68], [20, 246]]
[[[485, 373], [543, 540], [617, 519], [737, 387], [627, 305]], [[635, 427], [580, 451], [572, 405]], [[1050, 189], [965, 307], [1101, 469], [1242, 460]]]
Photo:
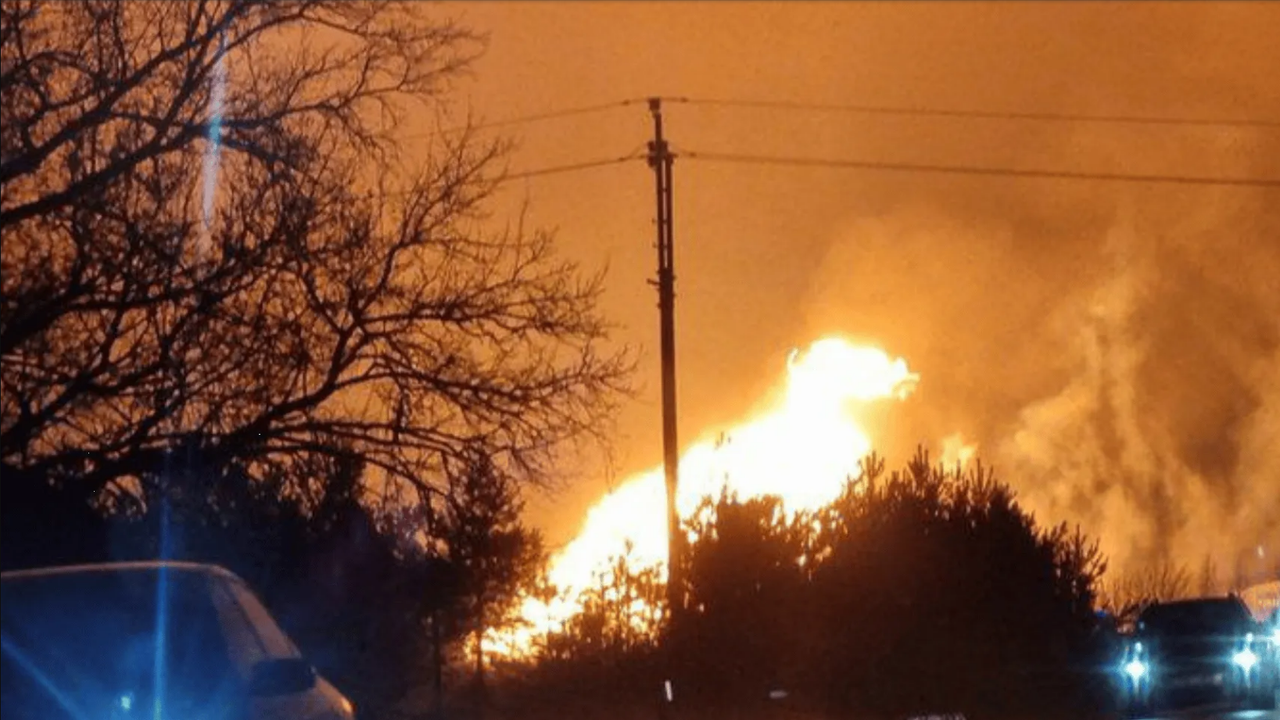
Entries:
[[1170, 296], [1156, 243], [1119, 227], [1106, 247], [1111, 270], [1055, 323], [1075, 373], [1019, 411], [996, 461], [1039, 516], [1100, 534], [1120, 571], [1207, 557], [1253, 574], [1257, 548], [1280, 552], [1280, 355], [1260, 313], [1280, 315], [1251, 309], [1254, 346], [1233, 347], [1248, 340], [1194, 316], [1221, 310], [1208, 278]]

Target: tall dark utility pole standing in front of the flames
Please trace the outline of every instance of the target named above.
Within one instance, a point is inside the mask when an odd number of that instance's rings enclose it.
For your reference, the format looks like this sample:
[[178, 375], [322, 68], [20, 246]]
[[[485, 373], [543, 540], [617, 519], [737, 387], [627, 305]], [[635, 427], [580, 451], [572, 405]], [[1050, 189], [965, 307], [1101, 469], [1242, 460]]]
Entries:
[[671, 222], [671, 164], [673, 156], [662, 136], [662, 99], [649, 99], [653, 115], [653, 141], [649, 167], [653, 168], [658, 199], [658, 314], [662, 351], [662, 465], [667, 480], [667, 609], [672, 625], [685, 607], [684, 543], [676, 512], [680, 486], [680, 446], [676, 441], [676, 273]]

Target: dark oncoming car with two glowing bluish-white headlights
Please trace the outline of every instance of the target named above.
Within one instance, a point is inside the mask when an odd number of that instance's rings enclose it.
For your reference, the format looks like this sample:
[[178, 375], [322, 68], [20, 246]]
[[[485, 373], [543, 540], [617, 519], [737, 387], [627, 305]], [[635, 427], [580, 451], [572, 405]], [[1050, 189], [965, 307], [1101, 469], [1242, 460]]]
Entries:
[[1271, 710], [1280, 673], [1268, 628], [1236, 596], [1148, 606], [1117, 670], [1128, 716], [1224, 700]]

